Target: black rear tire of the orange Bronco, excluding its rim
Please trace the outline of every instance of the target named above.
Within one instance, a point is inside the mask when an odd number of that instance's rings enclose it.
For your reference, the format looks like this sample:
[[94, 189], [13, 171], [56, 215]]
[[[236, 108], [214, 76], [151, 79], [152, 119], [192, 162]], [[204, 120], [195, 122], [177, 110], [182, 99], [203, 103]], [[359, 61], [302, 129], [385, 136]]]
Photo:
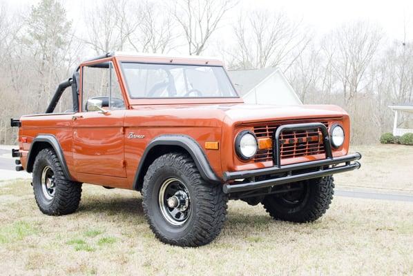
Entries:
[[[46, 198], [42, 190], [41, 177], [46, 166], [52, 169], [55, 177], [55, 194]], [[61, 163], [52, 148], [41, 150], [33, 165], [33, 190], [37, 206], [46, 215], [68, 215], [79, 207], [81, 183], [68, 180], [61, 168]]]

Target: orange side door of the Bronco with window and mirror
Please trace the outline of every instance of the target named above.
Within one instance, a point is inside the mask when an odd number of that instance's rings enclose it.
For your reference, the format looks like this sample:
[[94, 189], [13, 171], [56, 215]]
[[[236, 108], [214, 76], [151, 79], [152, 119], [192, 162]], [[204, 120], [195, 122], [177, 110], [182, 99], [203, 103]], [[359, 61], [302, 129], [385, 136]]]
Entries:
[[112, 61], [81, 68], [81, 112], [73, 116], [77, 174], [126, 177], [125, 105]]

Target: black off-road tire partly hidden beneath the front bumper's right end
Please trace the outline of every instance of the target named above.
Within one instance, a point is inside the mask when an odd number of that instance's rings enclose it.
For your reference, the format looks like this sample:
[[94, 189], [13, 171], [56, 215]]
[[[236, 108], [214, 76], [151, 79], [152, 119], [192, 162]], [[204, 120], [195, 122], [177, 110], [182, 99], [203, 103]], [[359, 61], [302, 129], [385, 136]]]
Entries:
[[[334, 178], [332, 176], [303, 181], [305, 195], [295, 206], [286, 206], [280, 195], [267, 195], [262, 200], [267, 213], [273, 219], [293, 222], [315, 221], [324, 215], [332, 203]], [[291, 185], [291, 187], [294, 187]]]

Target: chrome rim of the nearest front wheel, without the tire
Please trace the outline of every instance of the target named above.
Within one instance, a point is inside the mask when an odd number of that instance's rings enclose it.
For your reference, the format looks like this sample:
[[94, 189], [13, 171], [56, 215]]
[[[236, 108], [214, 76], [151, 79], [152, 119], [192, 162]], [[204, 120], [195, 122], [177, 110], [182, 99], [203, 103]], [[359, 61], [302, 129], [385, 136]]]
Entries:
[[166, 179], [159, 191], [158, 204], [162, 216], [175, 226], [188, 220], [191, 214], [191, 197], [185, 184], [176, 178]]

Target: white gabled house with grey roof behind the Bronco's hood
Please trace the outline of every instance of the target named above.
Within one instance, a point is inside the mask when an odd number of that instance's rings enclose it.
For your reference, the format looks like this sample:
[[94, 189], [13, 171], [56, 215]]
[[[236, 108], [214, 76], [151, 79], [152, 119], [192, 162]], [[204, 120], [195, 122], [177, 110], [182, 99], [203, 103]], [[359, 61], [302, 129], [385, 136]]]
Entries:
[[302, 104], [278, 68], [230, 70], [229, 77], [246, 103]]

